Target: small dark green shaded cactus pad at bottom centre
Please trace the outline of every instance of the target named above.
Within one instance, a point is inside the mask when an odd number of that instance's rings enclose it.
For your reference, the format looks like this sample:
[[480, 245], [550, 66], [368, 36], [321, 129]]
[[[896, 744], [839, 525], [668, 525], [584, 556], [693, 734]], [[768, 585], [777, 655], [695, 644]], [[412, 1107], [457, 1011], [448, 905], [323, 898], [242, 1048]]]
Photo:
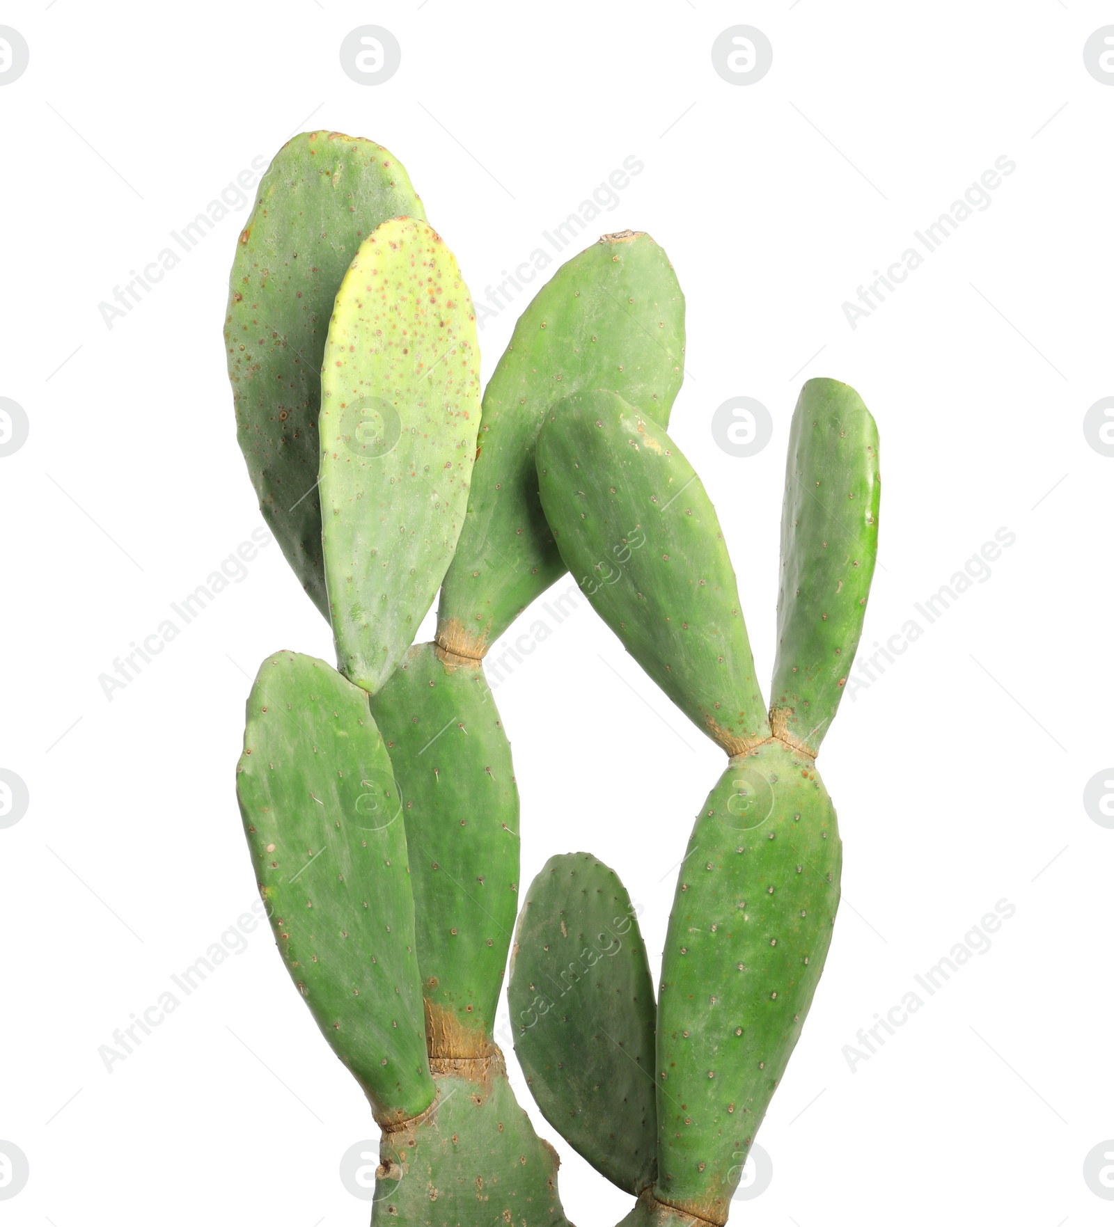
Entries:
[[534, 879], [508, 1004], [542, 1115], [638, 1195], [656, 1169], [654, 985], [631, 897], [595, 856], [551, 856]]

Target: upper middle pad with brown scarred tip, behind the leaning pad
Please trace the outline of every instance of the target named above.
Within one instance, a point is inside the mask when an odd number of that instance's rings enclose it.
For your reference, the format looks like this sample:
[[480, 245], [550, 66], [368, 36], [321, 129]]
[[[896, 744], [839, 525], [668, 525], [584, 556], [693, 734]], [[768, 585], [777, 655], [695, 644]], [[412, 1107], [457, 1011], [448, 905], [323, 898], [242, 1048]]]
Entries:
[[605, 234], [539, 290], [483, 395], [472, 496], [438, 609], [443, 648], [482, 656], [564, 573], [534, 471], [546, 411], [611, 388], [666, 423], [683, 362], [685, 297], [649, 234]]

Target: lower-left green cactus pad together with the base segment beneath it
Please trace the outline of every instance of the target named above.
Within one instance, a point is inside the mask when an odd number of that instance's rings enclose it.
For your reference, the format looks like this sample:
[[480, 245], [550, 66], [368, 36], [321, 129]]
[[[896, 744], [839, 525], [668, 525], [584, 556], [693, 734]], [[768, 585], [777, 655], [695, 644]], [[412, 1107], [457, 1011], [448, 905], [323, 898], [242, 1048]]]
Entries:
[[237, 791], [287, 971], [383, 1128], [373, 1227], [564, 1227], [498, 1052], [427, 1059], [404, 802], [367, 694], [312, 656], [264, 661]]

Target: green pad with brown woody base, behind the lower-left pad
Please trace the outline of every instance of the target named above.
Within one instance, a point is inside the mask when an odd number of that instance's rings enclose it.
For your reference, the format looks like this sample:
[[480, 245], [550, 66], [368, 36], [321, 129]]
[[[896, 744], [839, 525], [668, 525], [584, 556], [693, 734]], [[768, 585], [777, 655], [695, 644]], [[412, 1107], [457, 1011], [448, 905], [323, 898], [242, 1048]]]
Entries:
[[518, 785], [482, 667], [443, 655], [411, 648], [372, 712], [406, 798], [429, 1054], [478, 1056], [518, 910]]

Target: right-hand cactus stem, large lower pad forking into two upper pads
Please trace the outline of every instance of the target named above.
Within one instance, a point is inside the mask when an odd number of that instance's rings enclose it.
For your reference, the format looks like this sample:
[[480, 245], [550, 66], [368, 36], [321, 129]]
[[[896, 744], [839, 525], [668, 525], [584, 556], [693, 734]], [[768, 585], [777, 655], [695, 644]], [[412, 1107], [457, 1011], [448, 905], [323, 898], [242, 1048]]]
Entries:
[[562, 558], [631, 654], [730, 756], [678, 876], [656, 1010], [656, 1175], [624, 1223], [726, 1222], [823, 968], [842, 845], [815, 755], [865, 615], [877, 458], [858, 394], [805, 384], [768, 721], [723, 533], [665, 429], [593, 391], [555, 406], [539, 437], [540, 498]]

